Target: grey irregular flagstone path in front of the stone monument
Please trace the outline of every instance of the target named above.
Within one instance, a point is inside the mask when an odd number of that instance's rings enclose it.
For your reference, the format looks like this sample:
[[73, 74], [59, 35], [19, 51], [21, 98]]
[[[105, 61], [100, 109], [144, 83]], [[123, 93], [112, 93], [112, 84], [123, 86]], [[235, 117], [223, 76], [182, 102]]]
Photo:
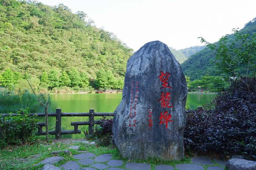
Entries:
[[[112, 156], [108, 153], [95, 156], [95, 154], [87, 152], [74, 155], [77, 161], [70, 161], [60, 166], [65, 169], [81, 169], [82, 167], [79, 165], [89, 165], [87, 170], [123, 170], [123, 168], [119, 168], [118, 166], [122, 166], [124, 164], [121, 160], [112, 159]], [[215, 163], [214, 163], [214, 162]], [[209, 157], [199, 156], [194, 157], [191, 159], [191, 164], [177, 164], [175, 168], [179, 170], [204, 170], [204, 167], [201, 165], [210, 165], [207, 170], [224, 170], [226, 165], [226, 161], [218, 160], [217, 158], [210, 159]], [[150, 164], [147, 163], [135, 163], [135, 162], [128, 162], [125, 165], [125, 169], [130, 170], [150, 170]], [[170, 165], [157, 165], [155, 166], [156, 170], [174, 170], [174, 166]]]

